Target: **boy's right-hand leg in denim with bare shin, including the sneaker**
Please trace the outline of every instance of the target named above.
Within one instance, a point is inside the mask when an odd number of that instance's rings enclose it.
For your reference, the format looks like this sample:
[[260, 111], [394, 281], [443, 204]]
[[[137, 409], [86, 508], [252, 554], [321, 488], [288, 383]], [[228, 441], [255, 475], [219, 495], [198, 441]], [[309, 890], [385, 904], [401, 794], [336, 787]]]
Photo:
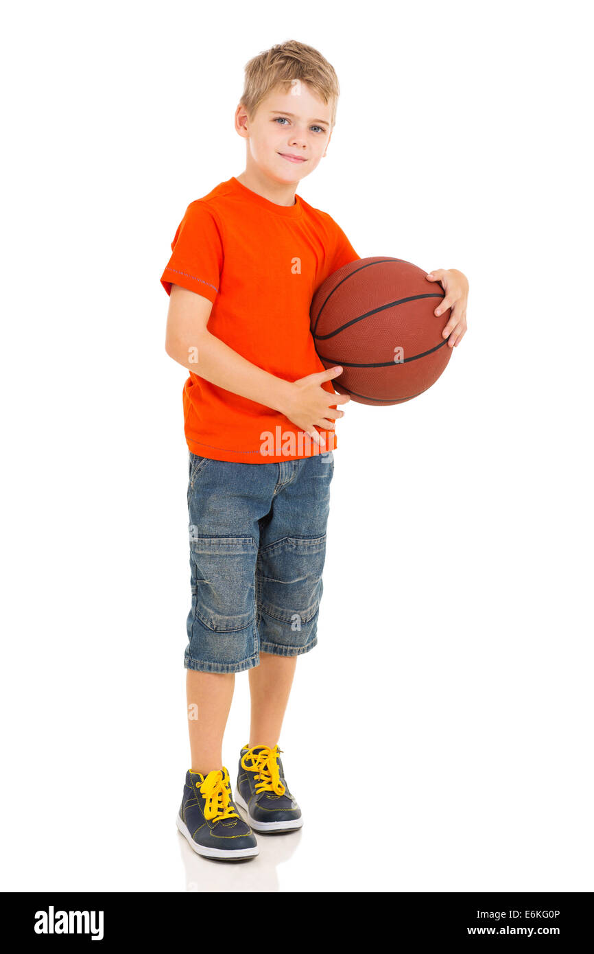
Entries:
[[256, 561], [259, 666], [250, 672], [252, 725], [241, 748], [236, 802], [258, 832], [294, 831], [303, 819], [287, 784], [278, 738], [297, 655], [317, 644], [332, 451], [279, 465]]

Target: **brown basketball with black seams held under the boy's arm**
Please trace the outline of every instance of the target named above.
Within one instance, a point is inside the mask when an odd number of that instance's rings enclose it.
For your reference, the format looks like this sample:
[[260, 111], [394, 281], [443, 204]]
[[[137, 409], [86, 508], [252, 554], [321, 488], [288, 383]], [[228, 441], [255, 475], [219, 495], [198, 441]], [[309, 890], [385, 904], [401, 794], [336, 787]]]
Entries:
[[339, 364], [332, 384], [359, 404], [402, 404], [435, 384], [452, 348], [441, 332], [450, 309], [417, 265], [378, 256], [333, 272], [312, 300], [310, 323], [324, 367]]

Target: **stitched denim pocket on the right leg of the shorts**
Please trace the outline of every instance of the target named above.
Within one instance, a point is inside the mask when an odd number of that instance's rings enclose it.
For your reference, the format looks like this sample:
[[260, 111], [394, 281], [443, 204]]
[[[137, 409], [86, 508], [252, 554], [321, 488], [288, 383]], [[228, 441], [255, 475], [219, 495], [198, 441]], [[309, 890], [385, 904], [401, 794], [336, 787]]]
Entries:
[[309, 623], [323, 591], [326, 534], [284, 537], [258, 553], [258, 606], [283, 623]]

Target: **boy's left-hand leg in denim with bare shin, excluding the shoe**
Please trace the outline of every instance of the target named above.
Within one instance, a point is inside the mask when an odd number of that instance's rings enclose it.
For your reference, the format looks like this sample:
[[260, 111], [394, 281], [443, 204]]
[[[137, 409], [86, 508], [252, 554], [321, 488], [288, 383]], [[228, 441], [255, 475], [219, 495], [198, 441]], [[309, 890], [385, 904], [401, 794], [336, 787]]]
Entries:
[[235, 673], [258, 665], [259, 520], [271, 508], [277, 479], [277, 464], [236, 464], [190, 453], [192, 609], [184, 663], [192, 770], [201, 775], [223, 767]]

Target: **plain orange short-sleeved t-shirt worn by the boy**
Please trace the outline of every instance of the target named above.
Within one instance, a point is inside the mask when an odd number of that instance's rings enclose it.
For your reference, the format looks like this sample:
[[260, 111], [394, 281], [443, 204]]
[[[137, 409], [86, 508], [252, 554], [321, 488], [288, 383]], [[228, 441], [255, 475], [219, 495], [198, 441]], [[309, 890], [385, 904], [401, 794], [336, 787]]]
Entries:
[[[208, 330], [247, 361], [285, 381], [323, 371], [309, 310], [319, 285], [359, 258], [337, 223], [296, 195], [277, 205], [235, 176], [191, 202], [172, 242], [161, 284], [213, 302]], [[331, 381], [321, 385], [335, 394]], [[284, 414], [190, 372], [183, 389], [186, 442], [199, 457], [270, 464], [333, 450]], [[337, 407], [336, 404], [330, 405]]]

